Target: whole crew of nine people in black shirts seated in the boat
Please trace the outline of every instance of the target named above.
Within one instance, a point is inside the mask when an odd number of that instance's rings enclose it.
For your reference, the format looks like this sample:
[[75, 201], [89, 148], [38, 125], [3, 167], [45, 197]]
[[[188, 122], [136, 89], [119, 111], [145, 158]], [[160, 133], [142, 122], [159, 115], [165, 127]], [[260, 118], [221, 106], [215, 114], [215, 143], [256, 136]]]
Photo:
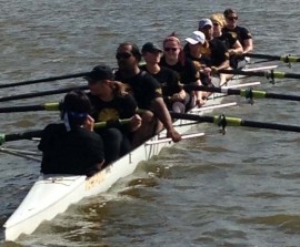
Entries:
[[[202, 106], [208, 96], [184, 85], [213, 86], [212, 73], [240, 68], [243, 54], [252, 50], [251, 34], [237, 20], [232, 9], [200, 20], [184, 47], [174, 33], [163, 40], [162, 49], [148, 42], [140, 52], [134, 43], [121, 43], [116, 72], [94, 66], [84, 78], [90, 92], [64, 96], [63, 123], [49, 124], [38, 146], [43, 153], [41, 172], [90, 176], [163, 127], [167, 137], [179, 142], [169, 111], [184, 113]], [[220, 85], [228, 79], [220, 74]], [[94, 122], [106, 122], [106, 127], [94, 128]]]

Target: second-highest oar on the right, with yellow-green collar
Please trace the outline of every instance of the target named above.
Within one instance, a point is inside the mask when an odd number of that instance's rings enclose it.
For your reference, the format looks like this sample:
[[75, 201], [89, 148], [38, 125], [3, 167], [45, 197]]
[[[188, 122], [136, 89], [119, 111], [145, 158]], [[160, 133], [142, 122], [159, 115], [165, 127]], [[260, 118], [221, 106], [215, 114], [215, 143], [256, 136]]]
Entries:
[[223, 74], [239, 74], [239, 75], [248, 75], [248, 76], [266, 76], [267, 79], [300, 79], [300, 74], [294, 73], [286, 73], [280, 71], [242, 71], [242, 70], [219, 70], [219, 73]]

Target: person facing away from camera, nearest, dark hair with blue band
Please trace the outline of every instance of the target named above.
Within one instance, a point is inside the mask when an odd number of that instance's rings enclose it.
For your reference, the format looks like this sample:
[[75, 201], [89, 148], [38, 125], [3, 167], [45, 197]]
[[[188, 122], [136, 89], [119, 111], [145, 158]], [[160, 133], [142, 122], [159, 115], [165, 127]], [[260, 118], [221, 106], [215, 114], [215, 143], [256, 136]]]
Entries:
[[71, 91], [63, 100], [61, 120], [42, 132], [41, 173], [91, 176], [104, 162], [103, 142], [93, 132], [91, 104], [83, 91]]

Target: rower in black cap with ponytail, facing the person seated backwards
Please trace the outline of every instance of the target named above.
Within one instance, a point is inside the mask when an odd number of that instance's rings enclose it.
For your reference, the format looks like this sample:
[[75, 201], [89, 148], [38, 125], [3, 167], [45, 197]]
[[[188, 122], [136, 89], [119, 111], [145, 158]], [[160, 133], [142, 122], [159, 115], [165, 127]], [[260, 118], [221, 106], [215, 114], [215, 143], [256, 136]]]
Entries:
[[[141, 117], [136, 114], [138, 104], [132, 95], [126, 92], [121, 82], [114, 81], [110, 66], [98, 65], [84, 78], [89, 83], [92, 104], [92, 117], [96, 122], [107, 122], [107, 127], [96, 128], [104, 142], [106, 164], [108, 165], [131, 147], [132, 133], [141, 125]], [[120, 120], [130, 119], [127, 124]]]

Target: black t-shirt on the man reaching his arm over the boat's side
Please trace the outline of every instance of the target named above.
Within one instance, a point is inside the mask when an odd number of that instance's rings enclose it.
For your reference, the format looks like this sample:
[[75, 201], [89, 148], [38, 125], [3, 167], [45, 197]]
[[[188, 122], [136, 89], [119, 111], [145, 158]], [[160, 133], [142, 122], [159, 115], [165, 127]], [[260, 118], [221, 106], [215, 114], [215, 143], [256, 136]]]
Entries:
[[150, 110], [152, 100], [162, 96], [160, 83], [146, 71], [141, 70], [133, 78], [122, 78], [117, 71], [116, 80], [128, 84], [139, 109]]

